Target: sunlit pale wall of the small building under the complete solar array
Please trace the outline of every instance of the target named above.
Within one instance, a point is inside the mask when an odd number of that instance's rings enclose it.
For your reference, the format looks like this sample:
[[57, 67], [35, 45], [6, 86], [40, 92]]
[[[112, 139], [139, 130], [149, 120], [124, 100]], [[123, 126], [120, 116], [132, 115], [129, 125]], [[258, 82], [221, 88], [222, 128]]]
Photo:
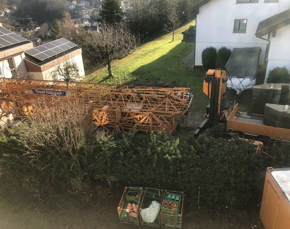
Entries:
[[[60, 64], [61, 67], [64, 66], [64, 64], [66, 62], [71, 62], [71, 63], [76, 63], [78, 69], [79, 69], [79, 75], [81, 78], [84, 78], [84, 69], [83, 69], [83, 62], [82, 62], [82, 56], [81, 53], [73, 56], [72, 58], [70, 58], [68, 61], [64, 61]], [[52, 75], [53, 72], [57, 69], [57, 65], [49, 68], [43, 72], [29, 72], [29, 74], [31, 74], [33, 76], [34, 79], [40, 79], [40, 80], [53, 80]], [[81, 79], [80, 78], [80, 79]]]

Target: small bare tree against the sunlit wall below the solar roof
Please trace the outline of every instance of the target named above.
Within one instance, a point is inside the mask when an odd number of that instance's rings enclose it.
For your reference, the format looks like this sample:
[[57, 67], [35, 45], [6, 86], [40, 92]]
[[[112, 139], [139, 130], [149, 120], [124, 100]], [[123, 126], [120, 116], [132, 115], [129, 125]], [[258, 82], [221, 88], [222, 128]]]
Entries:
[[52, 71], [53, 80], [74, 82], [79, 81], [80, 78], [79, 68], [77, 67], [77, 64], [72, 61], [66, 61], [64, 64], [58, 65], [55, 70]]

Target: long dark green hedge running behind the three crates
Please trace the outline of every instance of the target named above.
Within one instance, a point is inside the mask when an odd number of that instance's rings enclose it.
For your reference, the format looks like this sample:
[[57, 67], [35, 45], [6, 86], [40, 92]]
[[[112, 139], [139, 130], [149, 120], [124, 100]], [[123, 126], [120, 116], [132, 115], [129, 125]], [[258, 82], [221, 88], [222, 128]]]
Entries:
[[[101, 132], [95, 133], [94, 141], [84, 135], [84, 145], [77, 154], [61, 148], [36, 149], [40, 152], [38, 164], [36, 160], [28, 163], [30, 155], [24, 153], [25, 149], [19, 150], [25, 147], [21, 132], [29, 131], [22, 125], [0, 133], [0, 158], [6, 179], [40, 197], [83, 191], [85, 180], [181, 190], [194, 202], [200, 186], [200, 203], [206, 206], [242, 208], [260, 201], [255, 194], [262, 193], [266, 167], [260, 166], [263, 158], [255, 153], [253, 145], [242, 139], [178, 139], [137, 132], [110, 136]], [[277, 158], [290, 161], [287, 150]]]

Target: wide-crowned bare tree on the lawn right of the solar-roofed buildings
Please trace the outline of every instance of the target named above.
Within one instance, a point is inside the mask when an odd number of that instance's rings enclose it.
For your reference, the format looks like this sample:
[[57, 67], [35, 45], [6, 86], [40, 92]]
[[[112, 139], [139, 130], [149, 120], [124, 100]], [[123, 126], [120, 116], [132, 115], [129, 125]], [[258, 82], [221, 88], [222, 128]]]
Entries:
[[108, 68], [108, 76], [112, 77], [111, 61], [120, 60], [135, 51], [138, 38], [131, 34], [126, 25], [122, 23], [103, 23], [99, 32], [87, 36], [84, 51], [95, 55], [97, 62], [104, 62]]

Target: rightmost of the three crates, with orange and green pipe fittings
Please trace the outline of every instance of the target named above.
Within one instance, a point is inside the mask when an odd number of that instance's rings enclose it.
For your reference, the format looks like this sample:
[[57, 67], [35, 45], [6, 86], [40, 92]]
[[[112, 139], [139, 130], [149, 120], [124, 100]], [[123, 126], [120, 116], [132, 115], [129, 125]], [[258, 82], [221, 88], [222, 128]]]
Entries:
[[[165, 197], [166, 194], [166, 190], [164, 191], [164, 196], [163, 199]], [[181, 228], [182, 227], [182, 217], [183, 217], [183, 203], [184, 203], [184, 193], [183, 192], [175, 192], [175, 191], [170, 191], [173, 193], [179, 193], [179, 195], [181, 196], [180, 198], [180, 203], [179, 203], [179, 208], [178, 208], [178, 214], [168, 214], [165, 212], [162, 212], [161, 209], [161, 213], [160, 213], [160, 219], [161, 219], [161, 227], [162, 228]]]

